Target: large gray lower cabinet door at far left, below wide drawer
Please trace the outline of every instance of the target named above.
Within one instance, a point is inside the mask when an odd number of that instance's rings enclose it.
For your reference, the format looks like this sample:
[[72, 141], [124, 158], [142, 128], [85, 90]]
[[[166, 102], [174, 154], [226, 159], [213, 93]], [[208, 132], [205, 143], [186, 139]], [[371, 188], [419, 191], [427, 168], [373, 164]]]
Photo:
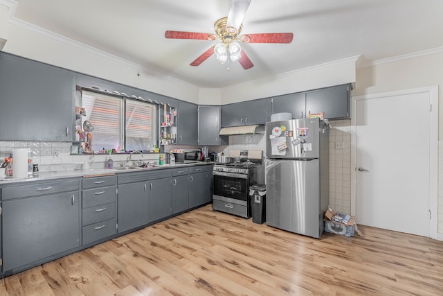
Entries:
[[80, 246], [79, 191], [3, 202], [3, 271]]

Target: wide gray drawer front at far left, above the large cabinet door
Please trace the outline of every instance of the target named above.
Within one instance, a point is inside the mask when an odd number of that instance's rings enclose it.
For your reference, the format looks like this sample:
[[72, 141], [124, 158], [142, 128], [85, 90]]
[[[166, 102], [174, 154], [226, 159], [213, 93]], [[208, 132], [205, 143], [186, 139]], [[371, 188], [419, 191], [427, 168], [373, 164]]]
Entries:
[[77, 191], [80, 189], [80, 179], [59, 180], [57, 182], [33, 183], [19, 186], [3, 187], [1, 199], [26, 198], [28, 196], [49, 195], [65, 191]]

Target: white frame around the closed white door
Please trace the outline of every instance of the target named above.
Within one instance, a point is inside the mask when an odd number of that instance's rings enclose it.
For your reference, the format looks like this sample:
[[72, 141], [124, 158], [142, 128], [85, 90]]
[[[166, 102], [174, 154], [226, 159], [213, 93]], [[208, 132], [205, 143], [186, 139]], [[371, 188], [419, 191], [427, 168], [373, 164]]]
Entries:
[[[351, 215], [356, 216], [356, 102], [371, 98], [428, 93], [431, 101], [429, 123], [429, 237], [443, 241], [443, 233], [438, 233], [438, 86], [404, 89], [394, 92], [352, 96], [351, 110]], [[395, 110], [392, 110], [393, 114]], [[359, 217], [356, 217], [358, 222]]]

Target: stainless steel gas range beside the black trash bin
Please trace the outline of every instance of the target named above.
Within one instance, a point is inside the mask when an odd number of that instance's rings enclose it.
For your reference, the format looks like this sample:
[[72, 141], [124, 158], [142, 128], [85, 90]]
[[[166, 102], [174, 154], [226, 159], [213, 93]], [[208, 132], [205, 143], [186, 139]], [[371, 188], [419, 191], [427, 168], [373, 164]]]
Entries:
[[[214, 165], [214, 211], [251, 218], [249, 186], [264, 184], [264, 166], [261, 151], [260, 154], [251, 153], [256, 158], [248, 158], [247, 152], [248, 150], [242, 150], [242, 157], [239, 158], [231, 156], [231, 163]], [[233, 155], [232, 151], [230, 155]]]

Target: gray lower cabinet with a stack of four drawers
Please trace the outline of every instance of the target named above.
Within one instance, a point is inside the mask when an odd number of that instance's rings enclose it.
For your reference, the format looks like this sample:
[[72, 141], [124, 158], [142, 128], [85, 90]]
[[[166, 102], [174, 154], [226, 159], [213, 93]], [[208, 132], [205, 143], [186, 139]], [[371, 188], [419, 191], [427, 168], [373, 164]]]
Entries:
[[116, 176], [85, 177], [82, 180], [82, 244], [117, 233]]

